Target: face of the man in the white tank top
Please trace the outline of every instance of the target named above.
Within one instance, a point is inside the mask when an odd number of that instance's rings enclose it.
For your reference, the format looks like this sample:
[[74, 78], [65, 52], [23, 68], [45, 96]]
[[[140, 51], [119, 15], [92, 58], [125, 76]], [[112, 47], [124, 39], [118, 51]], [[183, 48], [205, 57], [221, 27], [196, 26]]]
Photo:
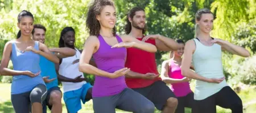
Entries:
[[75, 33], [68, 31], [63, 35], [62, 39], [66, 45], [73, 46], [75, 44]]

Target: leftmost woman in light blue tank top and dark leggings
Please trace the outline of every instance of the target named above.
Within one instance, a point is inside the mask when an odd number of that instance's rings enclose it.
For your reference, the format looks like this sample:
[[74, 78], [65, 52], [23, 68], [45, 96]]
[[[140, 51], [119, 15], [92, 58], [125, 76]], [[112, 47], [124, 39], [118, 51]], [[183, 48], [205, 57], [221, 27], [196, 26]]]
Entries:
[[[46, 98], [47, 89], [40, 76], [39, 60], [42, 55], [52, 62], [59, 59], [50, 53], [47, 46], [31, 39], [34, 17], [31, 12], [23, 10], [18, 15], [20, 37], [5, 44], [0, 66], [0, 75], [13, 76], [11, 84], [11, 102], [16, 113], [42, 113], [42, 102]], [[19, 35], [19, 34], [18, 34]], [[8, 69], [9, 60], [13, 62], [13, 70]]]

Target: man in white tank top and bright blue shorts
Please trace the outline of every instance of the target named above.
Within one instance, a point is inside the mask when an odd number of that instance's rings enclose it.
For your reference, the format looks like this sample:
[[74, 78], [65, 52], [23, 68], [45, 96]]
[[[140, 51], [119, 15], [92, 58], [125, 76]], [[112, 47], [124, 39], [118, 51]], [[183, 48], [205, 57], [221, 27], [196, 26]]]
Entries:
[[58, 80], [63, 85], [63, 99], [69, 113], [76, 113], [81, 109], [81, 101], [92, 99], [92, 85], [85, 81], [84, 73], [79, 71], [81, 51], [75, 48], [75, 30], [65, 27], [61, 31], [59, 47], [69, 47], [76, 50], [74, 56], [60, 59], [56, 65]]

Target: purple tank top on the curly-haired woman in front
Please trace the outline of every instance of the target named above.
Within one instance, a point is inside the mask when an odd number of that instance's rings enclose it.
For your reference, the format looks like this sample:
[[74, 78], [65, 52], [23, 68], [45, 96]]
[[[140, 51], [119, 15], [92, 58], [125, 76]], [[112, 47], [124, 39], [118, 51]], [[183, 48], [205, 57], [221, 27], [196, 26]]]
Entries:
[[[119, 36], [116, 36], [118, 43], [122, 42]], [[104, 38], [99, 35], [100, 47], [93, 54], [93, 58], [97, 67], [103, 71], [113, 73], [118, 69], [125, 67], [126, 48], [111, 48]], [[108, 77], [97, 76], [95, 77], [92, 96], [105, 97], [121, 93], [127, 88], [125, 76], [120, 76], [115, 79]]]

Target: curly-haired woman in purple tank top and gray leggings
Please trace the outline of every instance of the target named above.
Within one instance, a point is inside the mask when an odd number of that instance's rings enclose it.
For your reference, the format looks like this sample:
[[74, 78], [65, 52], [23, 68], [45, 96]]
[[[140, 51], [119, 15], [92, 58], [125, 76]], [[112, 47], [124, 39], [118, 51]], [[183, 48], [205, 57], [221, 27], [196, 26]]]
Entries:
[[[126, 47], [156, 52], [156, 47], [131, 36], [115, 33], [115, 7], [112, 1], [94, 1], [89, 7], [86, 27], [90, 36], [85, 41], [79, 70], [96, 75], [93, 86], [95, 113], [114, 113], [115, 108], [137, 113], [153, 113], [154, 104], [143, 95], [127, 88], [125, 74]], [[89, 64], [94, 58], [97, 67]]]

